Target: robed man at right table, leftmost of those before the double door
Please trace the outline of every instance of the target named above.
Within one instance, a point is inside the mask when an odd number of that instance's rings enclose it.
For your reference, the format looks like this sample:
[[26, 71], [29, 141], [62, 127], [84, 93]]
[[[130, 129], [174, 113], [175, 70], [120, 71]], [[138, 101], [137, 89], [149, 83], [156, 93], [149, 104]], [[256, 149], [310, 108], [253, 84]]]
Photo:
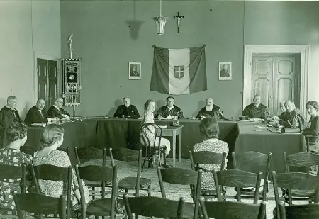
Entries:
[[248, 118], [267, 118], [269, 116], [269, 109], [264, 104], [260, 103], [260, 96], [256, 94], [253, 99], [254, 103], [246, 106], [242, 111], [242, 116]]

